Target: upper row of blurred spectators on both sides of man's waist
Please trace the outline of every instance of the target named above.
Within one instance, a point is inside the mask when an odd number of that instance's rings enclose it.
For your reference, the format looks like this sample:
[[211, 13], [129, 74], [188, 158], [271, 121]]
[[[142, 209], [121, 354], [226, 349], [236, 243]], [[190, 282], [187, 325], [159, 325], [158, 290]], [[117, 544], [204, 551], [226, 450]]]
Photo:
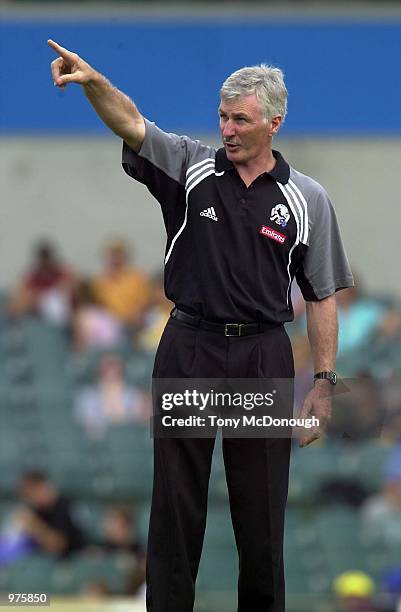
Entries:
[[[393, 295], [369, 295], [358, 278], [354, 288], [336, 297], [338, 360], [344, 375], [391, 376], [400, 365], [399, 301]], [[305, 302], [296, 283], [292, 303], [295, 317], [288, 331], [299, 373], [310, 370], [311, 361]], [[11, 318], [36, 315], [65, 326], [76, 352], [113, 349], [127, 334], [136, 346], [155, 351], [172, 307], [164, 295], [163, 273], [149, 277], [138, 269], [123, 239], [105, 245], [102, 271], [93, 278], [64, 263], [51, 242], [38, 243], [26, 273], [7, 298]], [[366, 349], [373, 360], [363, 359]]]

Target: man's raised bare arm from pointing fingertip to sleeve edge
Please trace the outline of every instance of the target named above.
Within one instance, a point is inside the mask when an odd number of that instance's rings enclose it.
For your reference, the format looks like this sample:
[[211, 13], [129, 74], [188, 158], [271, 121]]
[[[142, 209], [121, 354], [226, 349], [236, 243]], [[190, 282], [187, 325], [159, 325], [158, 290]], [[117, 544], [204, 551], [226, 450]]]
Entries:
[[132, 100], [79, 55], [53, 40], [47, 43], [59, 55], [51, 64], [55, 86], [64, 88], [68, 83], [82, 85], [101, 120], [138, 153], [145, 138], [145, 123]]

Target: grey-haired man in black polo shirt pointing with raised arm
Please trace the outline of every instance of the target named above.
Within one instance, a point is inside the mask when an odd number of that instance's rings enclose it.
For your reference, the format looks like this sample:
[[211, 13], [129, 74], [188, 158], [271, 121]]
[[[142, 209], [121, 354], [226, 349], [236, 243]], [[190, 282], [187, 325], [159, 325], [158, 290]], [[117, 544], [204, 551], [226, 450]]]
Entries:
[[[56, 86], [79, 83], [123, 141], [123, 168], [159, 201], [167, 231], [165, 290], [176, 308], [155, 378], [294, 375], [284, 323], [291, 282], [307, 301], [315, 384], [303, 415], [330, 414], [337, 347], [334, 294], [353, 284], [327, 193], [291, 168], [272, 139], [286, 114], [281, 70], [242, 68], [224, 82], [221, 149], [166, 134], [77, 54], [49, 45]], [[319, 430], [301, 438], [305, 446]], [[147, 606], [193, 610], [214, 438], [154, 440]], [[283, 532], [289, 438], [224, 438], [239, 555], [238, 611], [283, 612]]]

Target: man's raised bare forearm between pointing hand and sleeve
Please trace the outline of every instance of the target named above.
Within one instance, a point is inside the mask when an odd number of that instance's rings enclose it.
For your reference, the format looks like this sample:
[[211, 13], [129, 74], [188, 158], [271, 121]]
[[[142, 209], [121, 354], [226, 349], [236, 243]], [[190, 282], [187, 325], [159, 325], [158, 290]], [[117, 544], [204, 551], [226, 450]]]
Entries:
[[144, 120], [132, 100], [95, 70], [92, 78], [82, 87], [102, 121], [139, 151], [145, 130]]

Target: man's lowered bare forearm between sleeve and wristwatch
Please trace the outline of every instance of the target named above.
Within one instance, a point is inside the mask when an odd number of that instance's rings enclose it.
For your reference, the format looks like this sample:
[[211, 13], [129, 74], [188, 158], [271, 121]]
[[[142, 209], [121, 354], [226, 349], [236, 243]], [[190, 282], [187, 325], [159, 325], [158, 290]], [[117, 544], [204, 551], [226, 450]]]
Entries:
[[338, 342], [335, 296], [307, 302], [306, 318], [315, 373], [335, 370]]

